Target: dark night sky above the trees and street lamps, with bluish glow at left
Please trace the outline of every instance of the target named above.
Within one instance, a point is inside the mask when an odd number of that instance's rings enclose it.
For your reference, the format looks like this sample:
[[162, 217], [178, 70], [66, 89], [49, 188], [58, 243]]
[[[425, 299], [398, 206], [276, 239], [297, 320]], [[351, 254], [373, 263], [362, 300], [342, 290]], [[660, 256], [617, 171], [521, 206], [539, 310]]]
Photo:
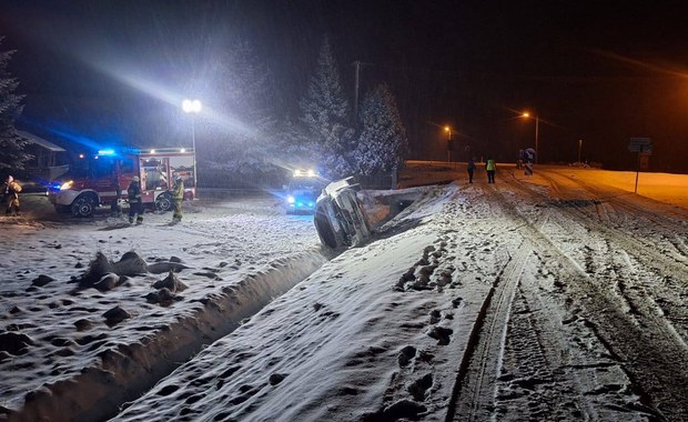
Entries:
[[[540, 119], [540, 162], [575, 161], [583, 139], [584, 160], [633, 170], [628, 140], [647, 137], [650, 170], [688, 172], [684, 9], [634, 0], [0, 0], [0, 49], [17, 50], [10, 71], [27, 94], [17, 125], [53, 140], [183, 137], [178, 105], [121, 77], [212, 105], [206, 78], [235, 37], [251, 42], [283, 112], [297, 117], [326, 36], [350, 101], [356, 60], [361, 94], [391, 86], [411, 158], [446, 159], [442, 127], [451, 124], [454, 158], [514, 161], [534, 147], [534, 121], [518, 118], [527, 109]], [[148, 130], [146, 121], [171, 129]]]

